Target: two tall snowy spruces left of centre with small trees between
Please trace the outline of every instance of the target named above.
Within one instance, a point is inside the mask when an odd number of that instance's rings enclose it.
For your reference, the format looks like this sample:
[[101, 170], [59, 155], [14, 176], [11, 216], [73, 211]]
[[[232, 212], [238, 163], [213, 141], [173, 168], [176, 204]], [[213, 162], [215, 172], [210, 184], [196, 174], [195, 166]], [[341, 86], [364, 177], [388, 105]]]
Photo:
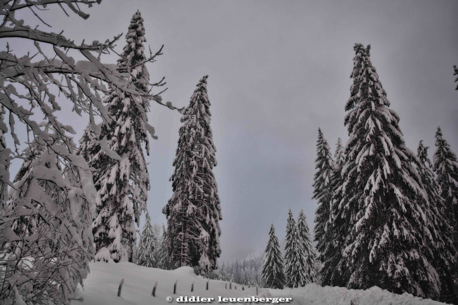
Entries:
[[[147, 94], [149, 83], [144, 34], [143, 18], [137, 11], [117, 61], [118, 67], [128, 69], [121, 72], [129, 72], [129, 81], [141, 94]], [[112, 122], [97, 125], [91, 116], [77, 155], [83, 156], [93, 169], [97, 191], [97, 217], [93, 222], [97, 261], [129, 261], [162, 269], [192, 266], [205, 275], [217, 268], [221, 254], [218, 221], [222, 214], [212, 171], [217, 160], [207, 78], [200, 80], [189, 106], [182, 109], [183, 126], [173, 163], [175, 172], [170, 178], [174, 194], [163, 208], [167, 229], [164, 227], [160, 233], [157, 225], [151, 225], [147, 213], [138, 245], [135, 224], [139, 225], [140, 215], [146, 211], [150, 189], [143, 149], [149, 155], [148, 132], [157, 138], [154, 129], [145, 123], [149, 102], [117, 90], [105, 100], [106, 115], [113, 118]]]

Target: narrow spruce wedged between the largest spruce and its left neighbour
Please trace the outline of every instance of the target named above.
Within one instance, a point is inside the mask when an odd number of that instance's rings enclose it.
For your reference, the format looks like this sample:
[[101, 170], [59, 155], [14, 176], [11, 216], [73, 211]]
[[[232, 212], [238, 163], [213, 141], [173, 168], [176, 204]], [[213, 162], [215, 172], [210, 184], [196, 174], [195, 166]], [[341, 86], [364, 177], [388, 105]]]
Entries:
[[345, 286], [343, 274], [345, 266], [340, 264], [342, 261], [343, 235], [345, 234], [345, 224], [343, 219], [338, 217], [340, 203], [342, 200], [343, 176], [342, 168], [345, 164], [345, 150], [342, 146], [341, 138], [338, 138], [334, 160], [336, 167], [330, 179], [330, 217], [326, 224], [325, 234], [323, 235], [324, 242], [321, 247], [320, 261], [322, 268], [320, 269], [320, 280], [323, 286]]

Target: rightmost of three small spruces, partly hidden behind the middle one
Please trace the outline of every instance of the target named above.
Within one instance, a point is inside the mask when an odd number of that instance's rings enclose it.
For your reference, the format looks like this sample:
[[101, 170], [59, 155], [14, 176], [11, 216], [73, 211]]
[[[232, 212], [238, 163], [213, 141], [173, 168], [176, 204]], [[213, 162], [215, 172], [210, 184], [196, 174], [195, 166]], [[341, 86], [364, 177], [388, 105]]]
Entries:
[[307, 224], [307, 217], [304, 214], [304, 210], [301, 209], [299, 216], [297, 217], [297, 229], [299, 236], [301, 236], [302, 244], [304, 248], [304, 266], [306, 271], [306, 279], [309, 279], [309, 283], [317, 282], [314, 263], [317, 257], [315, 247], [312, 244], [312, 237], [310, 237], [309, 225]]

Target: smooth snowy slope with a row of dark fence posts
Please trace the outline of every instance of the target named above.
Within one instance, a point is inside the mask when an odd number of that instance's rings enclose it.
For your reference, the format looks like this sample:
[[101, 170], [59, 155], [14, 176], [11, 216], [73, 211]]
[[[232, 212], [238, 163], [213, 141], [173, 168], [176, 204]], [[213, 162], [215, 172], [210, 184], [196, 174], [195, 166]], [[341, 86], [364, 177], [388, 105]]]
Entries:
[[[161, 270], [137, 266], [132, 263], [103, 263], [90, 264], [91, 273], [83, 282], [84, 291], [80, 287], [82, 303], [72, 301], [72, 304], [82, 305], [159, 305], [178, 304], [179, 296], [199, 296], [201, 298], [214, 298], [211, 304], [218, 304], [218, 296], [223, 298], [243, 298], [256, 296], [255, 288], [237, 285], [237, 290], [225, 289], [226, 282], [210, 280], [209, 290], [206, 290], [207, 279], [196, 276], [191, 267], [181, 267], [176, 270]], [[117, 297], [119, 282], [124, 278], [121, 297]], [[177, 294], [173, 294], [173, 285], [178, 280]], [[154, 282], [157, 281], [156, 297], [151, 295]], [[194, 292], [191, 284], [194, 281]], [[259, 294], [263, 291], [259, 290]], [[172, 297], [172, 302], [167, 302], [167, 297]], [[192, 303], [191, 303], [192, 304]], [[202, 303], [194, 303], [202, 304]], [[229, 303], [220, 303], [229, 304]]]

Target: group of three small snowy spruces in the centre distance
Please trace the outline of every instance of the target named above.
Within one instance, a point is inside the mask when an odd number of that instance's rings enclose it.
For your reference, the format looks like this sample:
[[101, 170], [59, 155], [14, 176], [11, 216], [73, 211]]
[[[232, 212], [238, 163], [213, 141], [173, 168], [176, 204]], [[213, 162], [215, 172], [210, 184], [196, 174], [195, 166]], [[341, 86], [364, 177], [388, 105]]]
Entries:
[[312, 245], [309, 226], [304, 210], [299, 212], [297, 223], [291, 209], [286, 221], [286, 244], [284, 257], [272, 225], [264, 253], [261, 270], [262, 286], [283, 289], [283, 287], [303, 287], [317, 282], [315, 258], [317, 254]]

